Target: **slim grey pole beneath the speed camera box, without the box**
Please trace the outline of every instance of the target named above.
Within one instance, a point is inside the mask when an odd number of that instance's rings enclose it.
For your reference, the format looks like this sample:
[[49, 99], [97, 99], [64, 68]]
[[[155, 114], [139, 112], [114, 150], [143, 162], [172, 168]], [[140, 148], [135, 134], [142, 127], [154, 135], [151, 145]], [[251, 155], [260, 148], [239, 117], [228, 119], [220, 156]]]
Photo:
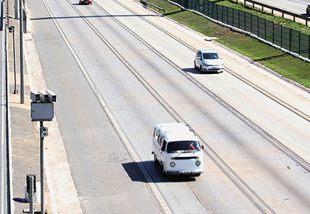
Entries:
[[44, 182], [44, 144], [43, 144], [43, 121], [40, 121], [40, 181], [41, 181], [41, 214], [45, 212], [45, 205], [44, 205], [44, 189], [45, 189], [45, 182]]

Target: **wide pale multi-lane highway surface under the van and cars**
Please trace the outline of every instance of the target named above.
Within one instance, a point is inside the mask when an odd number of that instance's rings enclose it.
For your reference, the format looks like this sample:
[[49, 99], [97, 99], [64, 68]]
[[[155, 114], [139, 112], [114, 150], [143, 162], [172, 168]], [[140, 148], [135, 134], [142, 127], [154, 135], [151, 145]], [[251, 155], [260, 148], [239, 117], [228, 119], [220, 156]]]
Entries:
[[[83, 213], [310, 211], [308, 94], [137, 2], [28, 6]], [[224, 73], [199, 74], [198, 48], [217, 49]], [[153, 125], [173, 121], [204, 144], [200, 177], [153, 164]]]

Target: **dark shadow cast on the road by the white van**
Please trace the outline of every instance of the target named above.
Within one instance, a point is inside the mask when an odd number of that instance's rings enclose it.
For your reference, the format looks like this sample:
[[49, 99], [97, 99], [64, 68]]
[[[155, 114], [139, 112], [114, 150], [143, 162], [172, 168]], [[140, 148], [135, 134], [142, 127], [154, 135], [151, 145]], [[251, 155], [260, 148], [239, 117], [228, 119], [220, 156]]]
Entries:
[[195, 177], [183, 176], [183, 175], [164, 175], [162, 167], [156, 165], [153, 161], [144, 161], [139, 163], [124, 163], [122, 164], [123, 168], [127, 172], [128, 176], [132, 181], [145, 182], [148, 181], [145, 179], [142, 171], [140, 170], [139, 165], [142, 164], [145, 168], [147, 174], [152, 179], [153, 183], [163, 183], [163, 182], [190, 182], [195, 181]]

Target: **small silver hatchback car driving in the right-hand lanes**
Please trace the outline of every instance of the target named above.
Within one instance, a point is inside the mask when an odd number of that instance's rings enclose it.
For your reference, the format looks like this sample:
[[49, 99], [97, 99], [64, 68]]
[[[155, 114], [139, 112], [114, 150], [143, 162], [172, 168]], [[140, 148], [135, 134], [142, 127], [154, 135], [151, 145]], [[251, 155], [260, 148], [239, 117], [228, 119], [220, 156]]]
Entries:
[[224, 69], [224, 63], [217, 51], [212, 49], [200, 49], [196, 53], [194, 67], [199, 68], [200, 73], [222, 73]]

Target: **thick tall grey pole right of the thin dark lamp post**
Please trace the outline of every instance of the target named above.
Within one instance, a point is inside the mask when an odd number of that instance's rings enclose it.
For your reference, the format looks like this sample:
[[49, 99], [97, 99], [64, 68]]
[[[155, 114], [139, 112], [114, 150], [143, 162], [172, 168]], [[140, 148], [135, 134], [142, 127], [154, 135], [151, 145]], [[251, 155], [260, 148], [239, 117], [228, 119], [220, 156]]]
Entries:
[[24, 38], [23, 38], [23, 2], [22, 0], [19, 0], [19, 32], [20, 32], [20, 101], [21, 103], [24, 103], [24, 97], [25, 97], [25, 85], [24, 85]]

